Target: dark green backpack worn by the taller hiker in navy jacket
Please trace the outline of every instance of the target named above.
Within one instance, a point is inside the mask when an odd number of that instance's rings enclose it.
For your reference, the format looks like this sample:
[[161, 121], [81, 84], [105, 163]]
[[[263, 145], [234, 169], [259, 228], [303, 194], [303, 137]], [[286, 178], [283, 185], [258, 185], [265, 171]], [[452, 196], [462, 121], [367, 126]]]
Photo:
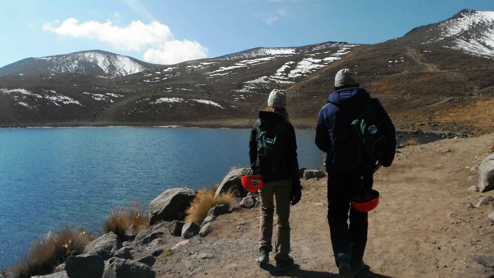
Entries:
[[374, 99], [370, 97], [362, 114], [351, 123], [358, 164], [375, 165], [386, 154], [388, 141], [383, 135], [382, 125], [374, 109]]

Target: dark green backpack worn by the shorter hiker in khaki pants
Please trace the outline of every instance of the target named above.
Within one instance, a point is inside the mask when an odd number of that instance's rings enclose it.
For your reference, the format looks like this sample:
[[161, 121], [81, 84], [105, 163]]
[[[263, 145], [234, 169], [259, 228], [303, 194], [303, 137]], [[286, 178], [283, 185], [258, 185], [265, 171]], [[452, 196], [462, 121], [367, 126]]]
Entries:
[[257, 126], [257, 160], [254, 167], [257, 174], [269, 175], [281, 168], [284, 152], [283, 137], [285, 122], [279, 123], [270, 129]]

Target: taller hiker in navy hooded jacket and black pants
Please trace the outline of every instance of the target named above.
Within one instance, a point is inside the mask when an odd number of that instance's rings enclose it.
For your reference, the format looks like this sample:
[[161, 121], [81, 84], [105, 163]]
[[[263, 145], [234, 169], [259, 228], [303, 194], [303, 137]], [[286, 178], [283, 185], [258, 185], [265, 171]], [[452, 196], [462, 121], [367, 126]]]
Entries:
[[353, 277], [367, 267], [363, 257], [369, 224], [368, 213], [351, 207], [350, 199], [362, 188], [372, 188], [372, 176], [379, 167], [391, 165], [395, 156], [396, 131], [381, 103], [373, 99], [373, 108], [388, 142], [387, 150], [375, 164], [368, 161], [358, 163], [350, 124], [362, 114], [370, 95], [359, 88], [355, 73], [349, 69], [336, 74], [334, 89], [328, 104], [319, 112], [316, 145], [327, 153], [328, 222], [336, 265], [341, 276]]

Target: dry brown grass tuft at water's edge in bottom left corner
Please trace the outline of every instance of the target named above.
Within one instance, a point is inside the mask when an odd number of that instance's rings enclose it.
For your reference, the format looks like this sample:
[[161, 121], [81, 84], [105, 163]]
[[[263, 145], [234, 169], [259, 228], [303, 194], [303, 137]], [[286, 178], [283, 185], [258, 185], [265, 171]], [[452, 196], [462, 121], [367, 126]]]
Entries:
[[53, 273], [71, 255], [80, 255], [93, 240], [92, 234], [86, 234], [84, 228], [76, 230], [66, 227], [55, 233], [48, 232], [33, 243], [27, 256], [11, 268], [16, 278], [29, 278], [36, 275]]

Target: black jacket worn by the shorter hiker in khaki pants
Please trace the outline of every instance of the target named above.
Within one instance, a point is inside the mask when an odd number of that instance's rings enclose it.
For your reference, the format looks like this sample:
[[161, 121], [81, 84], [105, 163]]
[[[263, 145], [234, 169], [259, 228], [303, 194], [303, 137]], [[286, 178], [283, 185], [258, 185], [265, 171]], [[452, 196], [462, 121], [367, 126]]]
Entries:
[[[282, 122], [285, 122], [286, 119], [280, 114], [274, 112], [260, 111], [259, 119], [261, 122], [261, 126], [264, 129], [270, 129]], [[256, 121], [252, 126], [252, 131], [250, 133], [250, 141], [249, 141], [249, 158], [250, 165], [253, 165], [257, 160], [257, 127], [259, 125], [259, 121]], [[293, 125], [286, 122], [285, 132], [283, 135], [283, 144], [285, 148], [285, 152], [282, 154], [281, 159], [281, 167], [280, 171], [276, 173], [272, 173], [270, 175], [264, 175], [264, 182], [274, 182], [281, 181], [286, 179], [291, 179], [292, 184], [299, 183], [300, 177], [298, 174], [298, 160], [297, 160], [297, 142], [295, 139], [295, 129]], [[255, 171], [255, 169], [252, 169]], [[257, 174], [254, 172], [254, 174]]]

